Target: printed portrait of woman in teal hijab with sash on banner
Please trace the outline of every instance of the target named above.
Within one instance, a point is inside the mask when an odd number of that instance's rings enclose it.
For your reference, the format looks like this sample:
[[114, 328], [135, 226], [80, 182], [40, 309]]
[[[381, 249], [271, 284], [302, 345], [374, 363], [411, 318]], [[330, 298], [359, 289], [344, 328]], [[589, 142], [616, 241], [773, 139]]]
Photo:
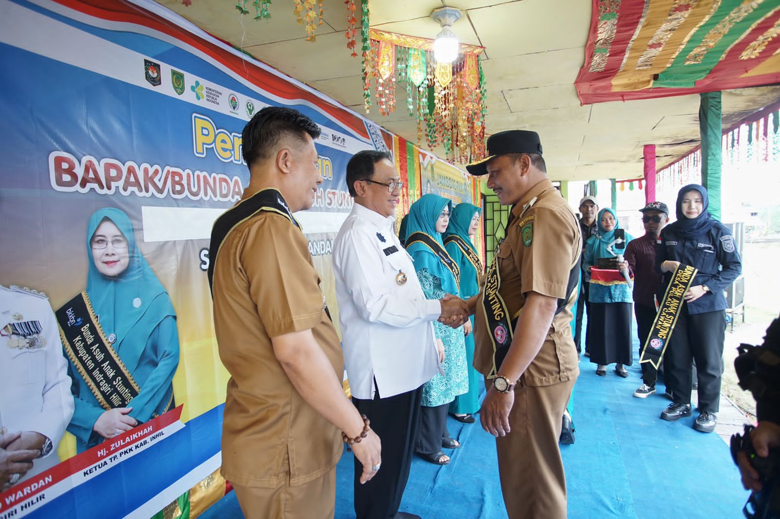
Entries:
[[87, 262], [86, 290], [56, 312], [78, 452], [171, 409], [179, 365], [176, 312], [122, 210], [104, 207], [90, 217]]

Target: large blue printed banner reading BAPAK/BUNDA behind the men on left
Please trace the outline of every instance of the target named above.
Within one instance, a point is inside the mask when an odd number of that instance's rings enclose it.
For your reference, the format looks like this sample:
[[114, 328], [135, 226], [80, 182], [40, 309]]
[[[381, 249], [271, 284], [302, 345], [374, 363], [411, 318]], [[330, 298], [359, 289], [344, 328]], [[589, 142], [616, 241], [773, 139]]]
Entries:
[[0, 0], [0, 64], [0, 284], [30, 288], [2, 289], [0, 426], [23, 436], [0, 450], [46, 454], [0, 472], [0, 519], [150, 517], [220, 463], [206, 270], [249, 180], [243, 126], [268, 105], [321, 125], [324, 182], [296, 217], [336, 322], [346, 162], [392, 135], [146, 0]]

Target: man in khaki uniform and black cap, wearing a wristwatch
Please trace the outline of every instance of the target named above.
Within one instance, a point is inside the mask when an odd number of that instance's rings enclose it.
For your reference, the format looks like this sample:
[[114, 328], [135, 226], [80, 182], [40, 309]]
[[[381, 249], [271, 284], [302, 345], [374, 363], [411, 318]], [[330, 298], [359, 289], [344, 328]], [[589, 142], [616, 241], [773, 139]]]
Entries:
[[558, 436], [580, 374], [569, 326], [580, 226], [547, 178], [536, 132], [499, 132], [487, 146], [488, 157], [467, 169], [488, 175], [512, 215], [484, 288], [470, 300], [474, 367], [488, 386], [481, 422], [497, 438], [510, 519], [559, 519], [566, 517], [566, 477]]

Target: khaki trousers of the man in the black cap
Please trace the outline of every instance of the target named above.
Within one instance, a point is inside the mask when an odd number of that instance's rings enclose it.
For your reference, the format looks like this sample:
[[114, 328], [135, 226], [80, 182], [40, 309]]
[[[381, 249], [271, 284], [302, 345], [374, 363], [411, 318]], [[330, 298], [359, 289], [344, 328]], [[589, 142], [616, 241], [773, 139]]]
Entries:
[[496, 438], [509, 519], [566, 519], [566, 475], [558, 436], [574, 380], [515, 387], [511, 433]]

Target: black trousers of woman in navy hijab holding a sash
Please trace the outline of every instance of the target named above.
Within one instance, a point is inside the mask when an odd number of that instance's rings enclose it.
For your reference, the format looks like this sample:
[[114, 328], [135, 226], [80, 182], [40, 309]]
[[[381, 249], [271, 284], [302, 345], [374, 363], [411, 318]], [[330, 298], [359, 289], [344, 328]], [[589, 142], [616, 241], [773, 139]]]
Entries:
[[664, 361], [667, 389], [671, 387], [675, 403], [690, 404], [691, 368], [695, 360], [699, 411], [718, 412], [725, 330], [725, 310], [690, 315], [688, 305], [683, 305]]

